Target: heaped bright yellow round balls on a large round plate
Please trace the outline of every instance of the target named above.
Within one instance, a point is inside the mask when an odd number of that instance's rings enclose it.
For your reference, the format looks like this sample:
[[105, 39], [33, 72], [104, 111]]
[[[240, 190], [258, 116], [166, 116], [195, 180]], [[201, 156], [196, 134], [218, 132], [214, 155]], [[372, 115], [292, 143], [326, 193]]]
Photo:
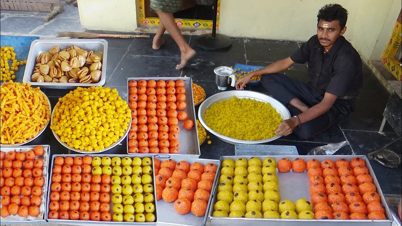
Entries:
[[70, 147], [103, 150], [124, 135], [131, 118], [127, 102], [116, 89], [78, 87], [55, 106], [50, 126]]

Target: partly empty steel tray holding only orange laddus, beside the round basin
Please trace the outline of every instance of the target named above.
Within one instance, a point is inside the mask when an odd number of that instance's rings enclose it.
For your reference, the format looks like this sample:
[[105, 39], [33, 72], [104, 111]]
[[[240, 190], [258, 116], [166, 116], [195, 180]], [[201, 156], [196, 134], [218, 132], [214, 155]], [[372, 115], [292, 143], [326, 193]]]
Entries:
[[[180, 142], [180, 154], [152, 154], [149, 153], [149, 155], [154, 155], [156, 157], [162, 157], [162, 158], [168, 158], [170, 156], [174, 156], [175, 158], [199, 158], [201, 152], [200, 152], [200, 147], [198, 144], [198, 134], [197, 134], [197, 123], [196, 118], [195, 118], [195, 108], [194, 108], [194, 101], [193, 101], [193, 82], [190, 77], [158, 77], [158, 78], [128, 78], [127, 79], [127, 103], [129, 103], [128, 100], [128, 82], [130, 80], [183, 80], [185, 82], [185, 88], [186, 88], [186, 104], [187, 107], [184, 110], [187, 113], [188, 119], [191, 119], [194, 121], [194, 127], [191, 130], [187, 130], [183, 127], [183, 121], [178, 122], [178, 126], [180, 127], [180, 132], [178, 135], [178, 140]], [[128, 138], [127, 138], [127, 153], [128, 153]], [[130, 153], [128, 153], [130, 154]]]

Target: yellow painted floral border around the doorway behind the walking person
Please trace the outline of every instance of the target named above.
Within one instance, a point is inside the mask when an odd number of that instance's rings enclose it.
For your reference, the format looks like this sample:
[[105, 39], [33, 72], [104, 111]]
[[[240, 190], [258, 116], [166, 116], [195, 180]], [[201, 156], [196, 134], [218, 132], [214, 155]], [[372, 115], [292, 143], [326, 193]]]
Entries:
[[[219, 28], [219, 12], [221, 8], [221, 1], [218, 0], [216, 28]], [[137, 16], [140, 25], [159, 25], [159, 18], [145, 17], [145, 1], [137, 0]], [[191, 27], [191, 28], [207, 28], [212, 29], [212, 21], [208, 20], [193, 20], [193, 19], [175, 19], [178, 27]]]

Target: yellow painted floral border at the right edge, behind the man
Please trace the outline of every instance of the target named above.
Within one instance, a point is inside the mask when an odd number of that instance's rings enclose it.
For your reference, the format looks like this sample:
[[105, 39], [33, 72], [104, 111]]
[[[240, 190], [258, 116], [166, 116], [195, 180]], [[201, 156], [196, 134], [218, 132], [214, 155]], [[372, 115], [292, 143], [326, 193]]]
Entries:
[[382, 54], [382, 63], [396, 78], [402, 81], [402, 69], [398, 60], [395, 59], [396, 51], [401, 44], [402, 40], [402, 25], [399, 22], [395, 23], [388, 45]]

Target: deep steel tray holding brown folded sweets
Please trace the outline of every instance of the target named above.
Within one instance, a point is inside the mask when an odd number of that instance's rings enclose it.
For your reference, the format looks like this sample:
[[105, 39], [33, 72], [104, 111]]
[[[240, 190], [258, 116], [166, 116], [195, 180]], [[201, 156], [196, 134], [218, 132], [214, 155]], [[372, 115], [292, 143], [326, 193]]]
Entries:
[[[102, 58], [102, 75], [97, 83], [55, 83], [55, 82], [32, 82], [31, 75], [36, 64], [36, 58], [39, 53], [49, 51], [49, 49], [58, 45], [60, 49], [66, 49], [72, 45], [76, 45], [81, 49], [89, 51], [97, 51], [103, 54]], [[78, 86], [103, 86], [106, 82], [106, 63], [107, 63], [107, 41], [105, 39], [37, 39], [32, 41], [29, 49], [27, 66], [25, 66], [23, 82], [28, 82], [32, 86], [40, 86], [43, 88], [54, 89], [74, 89]]]

